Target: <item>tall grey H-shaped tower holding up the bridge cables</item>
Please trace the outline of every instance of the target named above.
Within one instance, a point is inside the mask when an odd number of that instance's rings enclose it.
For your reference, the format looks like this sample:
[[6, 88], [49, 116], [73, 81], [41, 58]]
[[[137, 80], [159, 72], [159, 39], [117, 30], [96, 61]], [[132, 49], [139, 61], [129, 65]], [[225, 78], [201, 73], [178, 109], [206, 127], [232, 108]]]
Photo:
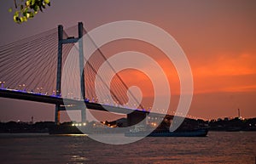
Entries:
[[[63, 26], [58, 25], [58, 60], [57, 60], [57, 79], [56, 79], [56, 96], [61, 96], [61, 69], [62, 69], [62, 45], [67, 43], [79, 42], [79, 71], [80, 71], [80, 88], [81, 97], [85, 99], [84, 87], [84, 48], [83, 48], [83, 23], [79, 22], [79, 37], [69, 37], [63, 39]], [[55, 105], [55, 124], [60, 123], [61, 106]], [[85, 122], [85, 109], [81, 109], [81, 120]]]

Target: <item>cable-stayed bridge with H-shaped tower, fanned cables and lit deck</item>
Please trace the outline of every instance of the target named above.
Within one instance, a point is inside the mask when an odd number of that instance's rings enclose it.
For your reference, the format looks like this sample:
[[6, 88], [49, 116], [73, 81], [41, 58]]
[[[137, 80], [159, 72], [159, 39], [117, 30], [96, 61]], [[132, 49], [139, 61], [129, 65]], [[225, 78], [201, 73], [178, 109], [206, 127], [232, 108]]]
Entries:
[[[117, 75], [113, 82], [113, 88], [108, 88], [114, 102], [111, 105], [108, 99], [106, 102], [97, 101], [92, 81], [96, 79], [97, 71], [107, 57], [104, 56], [100, 48], [97, 48], [97, 58], [85, 60], [82, 37], [87, 31], [84, 29], [83, 23], [79, 22], [78, 37], [70, 37], [69, 33], [74, 33], [76, 28], [74, 25], [64, 31], [63, 26], [59, 25], [57, 29], [44, 31], [38, 35], [0, 46], [0, 97], [55, 105], [56, 124], [60, 122], [60, 111], [67, 109], [81, 110], [81, 121], [85, 122], [84, 104], [90, 110], [125, 114], [129, 125], [141, 122], [148, 115], [150, 109], [144, 108], [129, 92], [125, 82], [111, 65], [108, 65], [109, 69]], [[62, 75], [67, 55], [76, 42], [79, 43], [78, 63], [74, 65], [79, 64], [78, 70], [72, 70], [73, 68], [70, 67], [69, 74]], [[94, 44], [93, 40], [91, 42]], [[63, 76], [69, 78], [67, 86], [71, 86], [65, 91], [61, 91]], [[101, 83], [103, 87], [107, 86], [103, 80]], [[79, 88], [73, 86], [79, 86]], [[75, 89], [79, 90], [81, 94], [74, 95], [73, 90]], [[127, 90], [131, 98], [130, 107], [125, 106], [127, 94], [121, 92]], [[66, 93], [65, 96], [61, 94], [62, 92]], [[164, 117], [165, 115], [154, 113], [154, 116]]]

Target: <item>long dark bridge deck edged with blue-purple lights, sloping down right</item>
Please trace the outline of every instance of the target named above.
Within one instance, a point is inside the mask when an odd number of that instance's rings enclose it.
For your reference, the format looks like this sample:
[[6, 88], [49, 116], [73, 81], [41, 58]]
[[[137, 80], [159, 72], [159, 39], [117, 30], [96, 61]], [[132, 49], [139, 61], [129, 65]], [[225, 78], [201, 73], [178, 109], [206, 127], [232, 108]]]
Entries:
[[[138, 122], [141, 122], [145, 118], [145, 116], [147, 116], [149, 113], [149, 111], [146, 111], [146, 110], [137, 110], [137, 109], [135, 110], [131, 108], [124, 108], [122, 106], [120, 107], [120, 106], [114, 106], [114, 105], [103, 105], [96, 102], [90, 102], [88, 99], [65, 99], [56, 95], [45, 95], [44, 93], [32, 93], [32, 92], [20, 91], [20, 90], [9, 89], [9, 88], [0, 88], [0, 97], [9, 98], [9, 99], [22, 99], [22, 100], [58, 105], [57, 112], [60, 112], [61, 110], [81, 110], [81, 109], [84, 110], [84, 105], [86, 105], [86, 108], [91, 110], [102, 110], [102, 111], [108, 111], [113, 113], [125, 114], [127, 115], [127, 118], [129, 118], [128, 119], [129, 125], [134, 125], [134, 124], [137, 124]], [[65, 106], [64, 101], [65, 101], [65, 104], [74, 105], [74, 106], [67, 107]], [[57, 117], [57, 119], [60, 118], [59, 116]], [[137, 118], [135, 118], [135, 116]], [[154, 116], [164, 117], [165, 115], [162, 115], [160, 113], [154, 113]], [[58, 124], [59, 120], [57, 120], [55, 123]]]

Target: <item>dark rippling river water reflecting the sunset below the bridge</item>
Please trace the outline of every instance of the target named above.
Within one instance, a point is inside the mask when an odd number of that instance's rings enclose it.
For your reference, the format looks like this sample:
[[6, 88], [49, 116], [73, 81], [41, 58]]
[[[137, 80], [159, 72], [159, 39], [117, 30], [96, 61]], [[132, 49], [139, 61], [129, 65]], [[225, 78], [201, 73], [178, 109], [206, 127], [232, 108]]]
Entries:
[[98, 143], [86, 136], [0, 134], [0, 163], [255, 163], [256, 132], [206, 138], [145, 138]]

